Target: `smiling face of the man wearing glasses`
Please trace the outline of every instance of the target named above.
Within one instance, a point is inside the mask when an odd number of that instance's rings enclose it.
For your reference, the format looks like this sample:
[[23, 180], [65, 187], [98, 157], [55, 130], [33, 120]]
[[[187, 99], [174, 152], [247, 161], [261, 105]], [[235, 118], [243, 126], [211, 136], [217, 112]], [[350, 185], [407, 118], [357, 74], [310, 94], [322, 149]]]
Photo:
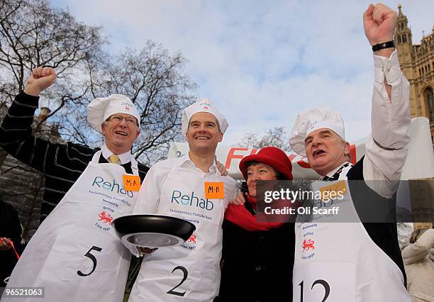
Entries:
[[[113, 118], [113, 116], [115, 116], [116, 119]], [[133, 119], [135, 123], [127, 123], [125, 118], [129, 120]], [[133, 146], [133, 142], [140, 134], [136, 118], [125, 113], [113, 114], [101, 125], [101, 128], [104, 138], [106, 138], [107, 147], [116, 155], [130, 150]]]

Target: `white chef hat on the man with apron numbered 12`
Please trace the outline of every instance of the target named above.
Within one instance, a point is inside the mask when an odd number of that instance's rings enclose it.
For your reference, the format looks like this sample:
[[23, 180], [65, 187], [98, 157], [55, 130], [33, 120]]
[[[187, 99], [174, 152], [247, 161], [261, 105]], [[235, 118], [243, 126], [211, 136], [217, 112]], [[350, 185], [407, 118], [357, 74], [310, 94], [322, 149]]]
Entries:
[[289, 145], [298, 155], [306, 156], [304, 140], [309, 133], [321, 128], [333, 130], [345, 140], [345, 128], [342, 116], [338, 111], [328, 108], [314, 108], [297, 116], [289, 137]]

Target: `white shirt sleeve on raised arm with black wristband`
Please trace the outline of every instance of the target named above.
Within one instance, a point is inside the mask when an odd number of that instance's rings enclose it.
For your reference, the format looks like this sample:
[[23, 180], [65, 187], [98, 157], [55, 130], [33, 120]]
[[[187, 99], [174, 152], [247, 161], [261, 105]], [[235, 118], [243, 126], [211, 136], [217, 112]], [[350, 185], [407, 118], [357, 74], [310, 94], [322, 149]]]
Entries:
[[[391, 101], [384, 79], [392, 86]], [[396, 50], [389, 58], [374, 55], [372, 134], [365, 145], [363, 177], [371, 189], [386, 198], [390, 198], [399, 185], [410, 142], [409, 86], [399, 67]]]

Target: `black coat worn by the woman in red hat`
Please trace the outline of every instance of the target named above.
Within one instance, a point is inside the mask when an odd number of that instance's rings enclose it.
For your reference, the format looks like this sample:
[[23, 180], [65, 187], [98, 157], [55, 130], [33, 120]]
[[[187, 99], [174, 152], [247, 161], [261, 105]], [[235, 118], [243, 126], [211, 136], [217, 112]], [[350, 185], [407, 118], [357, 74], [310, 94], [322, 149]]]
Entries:
[[292, 301], [294, 245], [294, 223], [250, 232], [224, 220], [216, 301]]

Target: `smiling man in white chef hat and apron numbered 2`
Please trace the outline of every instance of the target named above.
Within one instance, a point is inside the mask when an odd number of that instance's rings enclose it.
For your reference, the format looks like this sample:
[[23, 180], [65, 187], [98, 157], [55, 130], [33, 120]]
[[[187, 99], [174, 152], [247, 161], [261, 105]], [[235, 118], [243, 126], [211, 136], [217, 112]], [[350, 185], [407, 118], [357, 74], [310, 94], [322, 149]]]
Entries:
[[[143, 181], [134, 213], [156, 213], [194, 223], [189, 240], [147, 255], [129, 301], [212, 301], [220, 286], [223, 216], [236, 182], [216, 168], [216, 147], [228, 128], [208, 99], [182, 112], [189, 153], [154, 164]], [[221, 196], [208, 196], [209, 182]], [[216, 191], [216, 190], [214, 190]]]

